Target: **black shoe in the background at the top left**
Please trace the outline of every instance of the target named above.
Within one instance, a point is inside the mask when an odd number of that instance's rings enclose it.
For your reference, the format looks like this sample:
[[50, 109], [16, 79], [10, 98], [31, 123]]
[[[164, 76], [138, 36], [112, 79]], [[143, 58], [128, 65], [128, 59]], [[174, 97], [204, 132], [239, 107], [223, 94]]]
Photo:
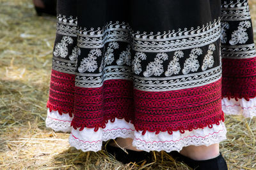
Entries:
[[43, 13], [47, 14], [47, 15], [57, 15], [57, 10], [56, 10], [56, 4], [57, 1], [56, 0], [41, 0], [42, 3], [44, 3], [44, 8], [39, 8], [37, 6], [35, 6], [35, 10], [36, 10], [36, 14], [38, 16], [43, 15]]

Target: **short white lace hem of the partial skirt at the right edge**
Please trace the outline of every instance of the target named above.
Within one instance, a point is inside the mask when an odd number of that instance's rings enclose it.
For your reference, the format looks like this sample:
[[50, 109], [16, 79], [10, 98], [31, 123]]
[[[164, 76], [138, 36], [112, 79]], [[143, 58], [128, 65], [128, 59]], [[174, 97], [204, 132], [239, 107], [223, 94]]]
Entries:
[[244, 117], [256, 117], [256, 97], [246, 101], [246, 99], [224, 97], [221, 101], [222, 110], [227, 115], [243, 115]]

